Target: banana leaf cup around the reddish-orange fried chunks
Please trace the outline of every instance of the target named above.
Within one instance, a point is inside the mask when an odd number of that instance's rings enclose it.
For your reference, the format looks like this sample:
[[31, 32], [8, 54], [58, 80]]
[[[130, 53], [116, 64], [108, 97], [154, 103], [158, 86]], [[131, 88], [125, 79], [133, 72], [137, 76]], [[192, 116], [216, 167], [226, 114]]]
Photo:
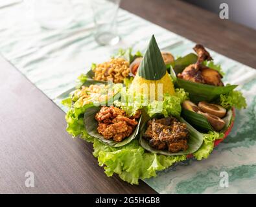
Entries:
[[141, 125], [141, 117], [139, 118], [139, 122], [137, 127], [134, 129], [132, 135], [124, 138], [122, 142], [115, 142], [114, 140], [106, 140], [102, 135], [100, 135], [97, 131], [98, 122], [95, 120], [95, 114], [100, 111], [100, 107], [89, 107], [86, 109], [84, 113], [84, 126], [86, 127], [86, 131], [90, 136], [93, 136], [103, 142], [104, 144], [108, 144], [111, 147], [121, 147], [136, 138], [139, 133], [139, 126]]

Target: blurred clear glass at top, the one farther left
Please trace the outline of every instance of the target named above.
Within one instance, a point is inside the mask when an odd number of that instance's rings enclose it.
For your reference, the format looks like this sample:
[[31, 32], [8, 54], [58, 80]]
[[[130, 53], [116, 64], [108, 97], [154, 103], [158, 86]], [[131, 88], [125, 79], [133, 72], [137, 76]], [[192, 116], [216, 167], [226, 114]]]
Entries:
[[36, 0], [34, 16], [43, 28], [64, 28], [73, 21], [73, 7], [70, 0]]

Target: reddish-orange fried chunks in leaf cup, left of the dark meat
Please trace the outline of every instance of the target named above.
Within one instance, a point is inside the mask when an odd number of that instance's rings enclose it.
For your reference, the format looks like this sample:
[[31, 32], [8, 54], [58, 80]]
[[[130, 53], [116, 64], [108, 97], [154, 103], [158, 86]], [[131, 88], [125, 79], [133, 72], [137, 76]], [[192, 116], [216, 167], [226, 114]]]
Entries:
[[132, 134], [138, 124], [135, 118], [140, 116], [140, 111], [132, 117], [127, 117], [122, 109], [104, 106], [95, 115], [95, 119], [99, 122], [97, 131], [107, 140], [113, 138], [115, 142], [121, 142]]

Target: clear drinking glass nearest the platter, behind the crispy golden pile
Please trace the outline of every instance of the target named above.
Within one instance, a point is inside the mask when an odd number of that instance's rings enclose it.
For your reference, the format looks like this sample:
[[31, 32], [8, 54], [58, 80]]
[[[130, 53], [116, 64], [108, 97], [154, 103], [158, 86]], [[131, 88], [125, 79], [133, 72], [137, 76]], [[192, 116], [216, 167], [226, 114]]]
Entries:
[[120, 38], [117, 34], [117, 11], [121, 0], [92, 0], [95, 23], [95, 40], [100, 45], [115, 45]]

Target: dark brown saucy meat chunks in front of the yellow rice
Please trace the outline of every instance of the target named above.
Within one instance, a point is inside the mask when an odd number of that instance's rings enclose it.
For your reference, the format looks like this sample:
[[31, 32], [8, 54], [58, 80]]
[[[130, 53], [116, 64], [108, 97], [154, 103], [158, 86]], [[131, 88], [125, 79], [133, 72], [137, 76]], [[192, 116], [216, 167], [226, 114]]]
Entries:
[[149, 141], [151, 147], [159, 150], [168, 149], [172, 153], [187, 149], [189, 131], [187, 126], [176, 118], [153, 118], [147, 125], [143, 138]]

